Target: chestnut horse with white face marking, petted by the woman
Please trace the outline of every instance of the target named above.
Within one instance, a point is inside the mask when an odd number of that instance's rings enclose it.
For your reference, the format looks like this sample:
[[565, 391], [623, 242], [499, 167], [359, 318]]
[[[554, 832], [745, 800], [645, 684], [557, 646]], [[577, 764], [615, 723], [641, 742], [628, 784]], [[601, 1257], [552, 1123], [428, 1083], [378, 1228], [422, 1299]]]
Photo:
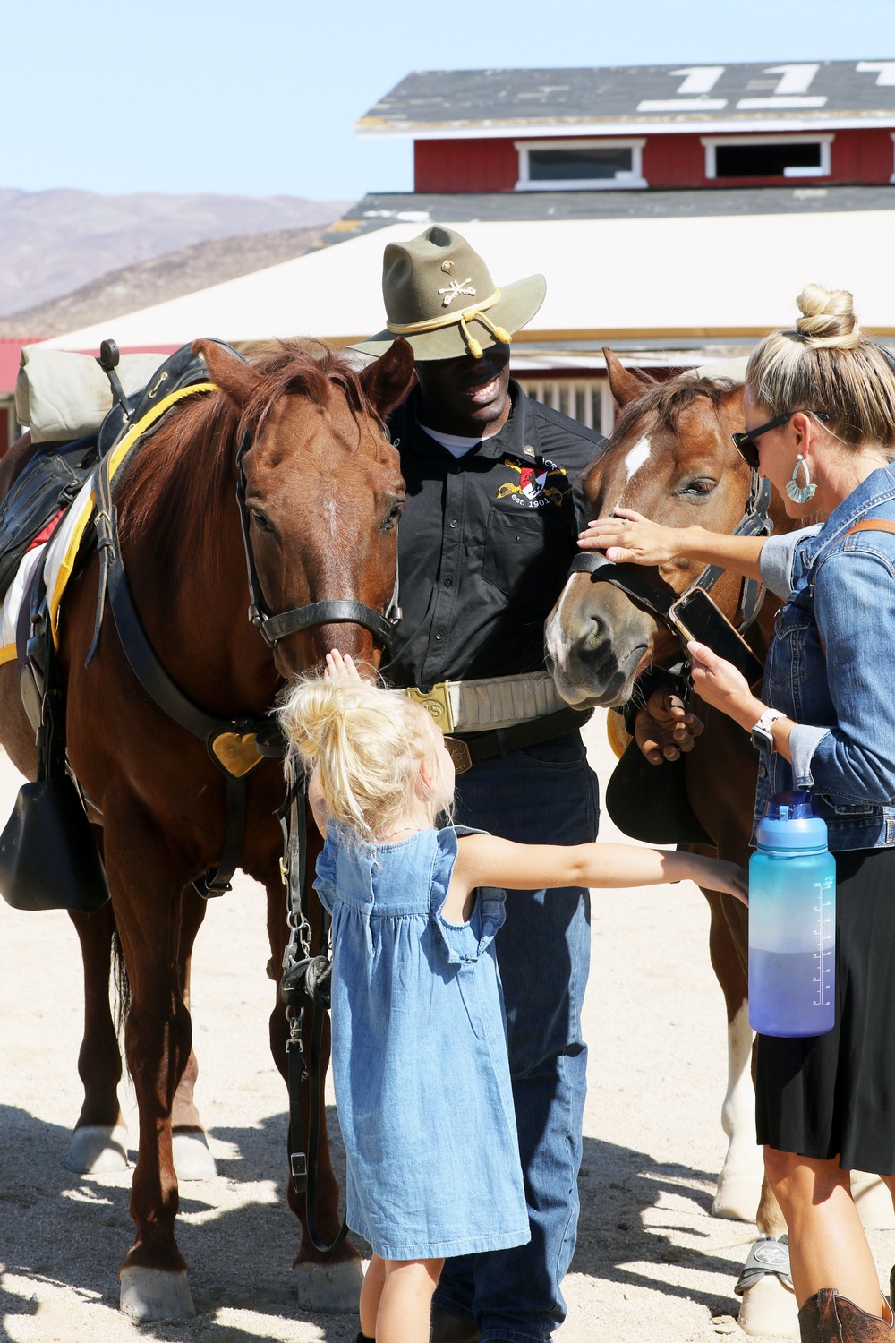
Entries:
[[[684, 375], [652, 384], [607, 352], [612, 392], [623, 408], [602, 457], [590, 467], [584, 492], [594, 517], [613, 508], [637, 509], [666, 526], [699, 524], [713, 532], [733, 532], [746, 510], [750, 471], [731, 442], [743, 427], [742, 385]], [[780, 505], [770, 509], [776, 530], [793, 526]], [[682, 592], [702, 565], [675, 560], [659, 573]], [[647, 571], [644, 571], [647, 572]], [[711, 596], [735, 624], [741, 579], [725, 573]], [[778, 607], [768, 594], [746, 638], [764, 661]], [[590, 575], [572, 573], [546, 624], [547, 665], [569, 704], [621, 705], [651, 663], [679, 661], [680, 645], [664, 624], [636, 607], [624, 592]], [[723, 713], [692, 700], [704, 732], [686, 759], [691, 807], [722, 858], [746, 865], [753, 822], [758, 757], [743, 733]], [[655, 766], [651, 768], [663, 768]], [[711, 850], [708, 850], [711, 851]], [[713, 1211], [751, 1221], [758, 1202], [761, 1233], [786, 1230], [766, 1182], [761, 1186], [761, 1155], [755, 1146], [751, 1095], [753, 1034], [747, 1013], [747, 912], [730, 896], [706, 890], [711, 912], [708, 951], [727, 1009], [729, 1084], [722, 1123], [729, 1136]], [[773, 1287], [772, 1287], [773, 1281]], [[741, 1323], [747, 1332], [786, 1332], [796, 1323], [792, 1293], [777, 1280], [762, 1280], [743, 1299]], [[758, 1299], [777, 1295], [774, 1327]], [[751, 1309], [750, 1309], [751, 1308]], [[751, 1322], [750, 1322], [751, 1315]], [[782, 1316], [782, 1328], [780, 1322]], [[797, 1332], [797, 1331], [796, 1331]]]

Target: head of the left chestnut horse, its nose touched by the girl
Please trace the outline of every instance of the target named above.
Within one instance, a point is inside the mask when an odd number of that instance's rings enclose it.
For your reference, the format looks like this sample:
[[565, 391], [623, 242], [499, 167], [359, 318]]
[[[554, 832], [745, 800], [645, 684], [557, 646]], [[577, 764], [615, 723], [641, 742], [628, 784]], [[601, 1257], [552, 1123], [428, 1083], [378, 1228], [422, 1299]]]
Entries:
[[[384, 424], [413, 377], [411, 346], [394, 341], [361, 373], [326, 348], [313, 356], [283, 344], [252, 363], [215, 341], [195, 348], [239, 412], [252, 600], [270, 615], [325, 603], [310, 612], [319, 620], [297, 629], [280, 622], [278, 672], [288, 677], [319, 665], [334, 646], [378, 665], [376, 615], [393, 604], [404, 505], [400, 459]], [[345, 603], [357, 622], [344, 618]], [[260, 626], [276, 633], [272, 622]]]

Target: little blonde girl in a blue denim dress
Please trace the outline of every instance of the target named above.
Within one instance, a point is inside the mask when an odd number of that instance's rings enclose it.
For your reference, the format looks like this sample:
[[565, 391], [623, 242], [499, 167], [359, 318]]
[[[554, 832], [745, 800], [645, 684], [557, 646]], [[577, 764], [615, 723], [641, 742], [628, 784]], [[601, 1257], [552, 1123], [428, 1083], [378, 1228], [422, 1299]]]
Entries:
[[441, 732], [350, 658], [326, 662], [282, 724], [326, 839], [315, 888], [333, 916], [346, 1217], [373, 1248], [358, 1343], [428, 1343], [444, 1258], [530, 1240], [494, 952], [505, 892], [690, 878], [745, 898], [746, 874], [688, 853], [437, 830], [454, 799]]

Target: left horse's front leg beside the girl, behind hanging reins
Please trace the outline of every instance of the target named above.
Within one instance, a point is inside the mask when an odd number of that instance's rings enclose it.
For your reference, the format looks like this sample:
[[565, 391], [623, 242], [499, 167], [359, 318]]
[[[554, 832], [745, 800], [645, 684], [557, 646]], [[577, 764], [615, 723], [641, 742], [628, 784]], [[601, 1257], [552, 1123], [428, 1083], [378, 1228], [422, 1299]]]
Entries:
[[[311, 911], [313, 947], [319, 947], [319, 909], [317, 917]], [[286, 1042], [288, 1039], [288, 1022], [286, 1009], [279, 998], [279, 976], [286, 950], [286, 890], [280, 881], [267, 885], [267, 935], [271, 948], [271, 963], [268, 974], [275, 980], [276, 1001], [270, 1017], [270, 1042], [274, 1062], [283, 1080], [288, 1085], [288, 1060]], [[310, 1057], [310, 1025], [311, 1013], [305, 1013], [305, 1057]], [[330, 1027], [329, 1014], [323, 1023], [323, 1041], [321, 1052], [321, 1092], [323, 1078], [330, 1058]], [[307, 1082], [302, 1086], [302, 1138], [305, 1151], [307, 1151], [307, 1116], [310, 1105], [317, 1104], [317, 1095], [311, 1096]], [[361, 1257], [348, 1237], [333, 1254], [321, 1254], [314, 1248], [307, 1234], [307, 1221], [305, 1217], [305, 1195], [297, 1194], [291, 1179], [286, 1180], [286, 1195], [288, 1206], [302, 1223], [302, 1240], [295, 1256], [298, 1303], [307, 1311], [323, 1311], [327, 1313], [356, 1313], [360, 1305], [361, 1284], [364, 1269]], [[338, 1215], [338, 1183], [333, 1174], [330, 1160], [329, 1135], [326, 1131], [326, 1116], [322, 1116], [319, 1129], [319, 1150], [317, 1155], [317, 1226], [325, 1241], [335, 1238], [339, 1229]]]

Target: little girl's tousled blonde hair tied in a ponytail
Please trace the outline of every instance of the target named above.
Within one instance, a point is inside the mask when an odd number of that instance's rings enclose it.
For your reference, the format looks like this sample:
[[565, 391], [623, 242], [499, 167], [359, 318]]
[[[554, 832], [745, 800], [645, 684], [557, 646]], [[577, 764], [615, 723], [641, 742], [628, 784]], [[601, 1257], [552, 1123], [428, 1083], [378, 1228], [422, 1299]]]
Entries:
[[[362, 839], [385, 837], [412, 806], [419, 766], [443, 776], [439, 729], [400, 690], [350, 677], [307, 677], [279, 710], [279, 721], [309, 770], [317, 768], [333, 821]], [[447, 798], [433, 798], [433, 811]]]

